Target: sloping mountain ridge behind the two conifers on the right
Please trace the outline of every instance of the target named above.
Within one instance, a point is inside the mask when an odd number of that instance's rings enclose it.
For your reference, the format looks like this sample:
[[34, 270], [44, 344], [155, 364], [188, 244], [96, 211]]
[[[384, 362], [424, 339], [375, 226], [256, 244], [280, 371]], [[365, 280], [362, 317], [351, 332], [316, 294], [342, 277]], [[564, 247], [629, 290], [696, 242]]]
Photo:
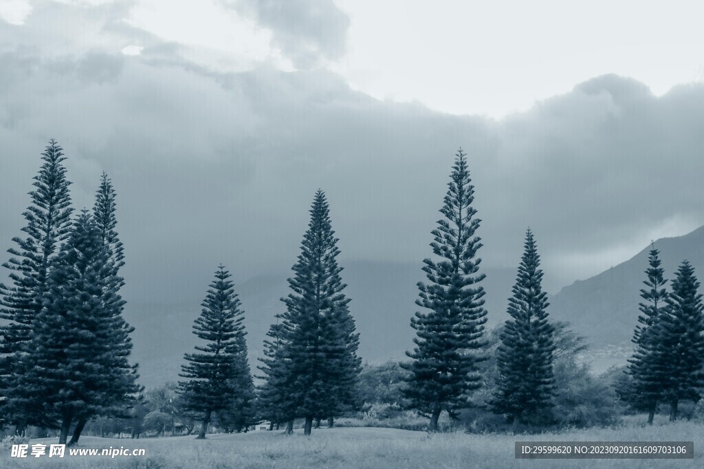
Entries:
[[[704, 279], [704, 226], [684, 236], [657, 240], [655, 248], [660, 250], [668, 290], [684, 259], [694, 266], [699, 280]], [[562, 288], [550, 298], [548, 312], [553, 319], [572, 323], [594, 347], [629, 346], [642, 301], [640, 290], [645, 288], [648, 251], [650, 246], [627, 262]]]

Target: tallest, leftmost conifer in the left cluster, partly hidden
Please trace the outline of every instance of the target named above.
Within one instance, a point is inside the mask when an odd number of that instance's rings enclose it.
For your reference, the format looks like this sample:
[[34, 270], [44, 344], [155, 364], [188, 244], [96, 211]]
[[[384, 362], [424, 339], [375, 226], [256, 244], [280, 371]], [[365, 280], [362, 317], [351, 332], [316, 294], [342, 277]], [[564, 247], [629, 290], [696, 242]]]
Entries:
[[12, 257], [3, 264], [13, 285], [0, 283], [0, 318], [8, 321], [0, 333], [0, 395], [6, 397], [2, 409], [6, 420], [15, 423], [19, 433], [27, 423], [38, 423], [39, 416], [34, 413], [36, 405], [20, 404], [26, 400], [15, 378], [25, 373], [23, 364], [30, 363], [23, 356], [32, 321], [42, 309], [46, 278], [71, 228], [71, 183], [66, 179], [65, 159], [63, 148], [49, 141], [32, 183], [32, 204], [23, 213], [27, 224], [22, 231], [27, 236], [13, 238], [18, 248], [8, 250]]

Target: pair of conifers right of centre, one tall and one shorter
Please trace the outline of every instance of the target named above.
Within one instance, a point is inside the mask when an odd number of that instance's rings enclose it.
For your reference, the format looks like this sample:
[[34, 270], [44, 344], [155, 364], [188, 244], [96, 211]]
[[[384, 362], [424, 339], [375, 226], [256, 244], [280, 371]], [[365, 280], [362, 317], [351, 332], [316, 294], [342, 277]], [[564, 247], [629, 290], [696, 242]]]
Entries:
[[[481, 220], [472, 207], [474, 186], [465, 153], [458, 151], [441, 207], [441, 218], [430, 244], [437, 260], [425, 259], [428, 284], [418, 283], [416, 304], [427, 312], [411, 319], [416, 330], [412, 359], [401, 364], [410, 373], [403, 394], [423, 415], [429, 430], [438, 430], [442, 411], [450, 418], [473, 406], [472, 393], [482, 386], [479, 364], [486, 359], [484, 337], [486, 309], [485, 275], [479, 273], [482, 248], [477, 230]], [[550, 420], [553, 406], [553, 326], [548, 322], [546, 293], [532, 231], [528, 230], [525, 252], [509, 300], [501, 330], [496, 366], [498, 383], [491, 409], [514, 423], [524, 418]]]

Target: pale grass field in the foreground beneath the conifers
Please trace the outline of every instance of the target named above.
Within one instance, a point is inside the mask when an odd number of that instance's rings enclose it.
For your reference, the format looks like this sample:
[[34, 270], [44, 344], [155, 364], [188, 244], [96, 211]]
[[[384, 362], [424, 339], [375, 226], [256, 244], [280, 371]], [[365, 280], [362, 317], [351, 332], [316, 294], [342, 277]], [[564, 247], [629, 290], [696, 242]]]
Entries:
[[[694, 441], [694, 459], [680, 460], [516, 460], [514, 442], [531, 441]], [[33, 439], [31, 443], [56, 443]], [[152, 439], [82, 437], [79, 448], [146, 449], [146, 456], [68, 456], [63, 459], [0, 457], [3, 468], [702, 468], [704, 425], [679, 422], [651, 428], [574, 430], [541, 435], [428, 434], [391, 428], [332, 428], [304, 437], [282, 432], [249, 432]]]

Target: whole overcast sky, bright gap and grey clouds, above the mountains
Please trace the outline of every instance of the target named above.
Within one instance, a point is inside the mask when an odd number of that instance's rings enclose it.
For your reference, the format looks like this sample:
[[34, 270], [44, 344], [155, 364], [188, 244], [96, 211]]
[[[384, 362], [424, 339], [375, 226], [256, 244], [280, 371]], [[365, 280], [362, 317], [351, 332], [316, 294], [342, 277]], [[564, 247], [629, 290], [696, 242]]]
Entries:
[[290, 268], [317, 188], [341, 259], [418, 262], [455, 151], [482, 257], [548, 288], [704, 224], [699, 2], [0, 1], [0, 249], [39, 153], [105, 170], [127, 285]]

